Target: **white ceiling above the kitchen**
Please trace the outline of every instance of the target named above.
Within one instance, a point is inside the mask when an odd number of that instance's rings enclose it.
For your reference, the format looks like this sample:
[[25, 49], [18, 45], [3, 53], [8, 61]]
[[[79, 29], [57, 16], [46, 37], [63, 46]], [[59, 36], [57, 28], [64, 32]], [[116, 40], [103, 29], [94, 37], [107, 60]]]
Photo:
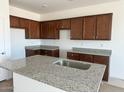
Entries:
[[117, 0], [9, 0], [9, 1], [10, 5], [12, 6], [43, 14], [77, 7], [113, 2]]

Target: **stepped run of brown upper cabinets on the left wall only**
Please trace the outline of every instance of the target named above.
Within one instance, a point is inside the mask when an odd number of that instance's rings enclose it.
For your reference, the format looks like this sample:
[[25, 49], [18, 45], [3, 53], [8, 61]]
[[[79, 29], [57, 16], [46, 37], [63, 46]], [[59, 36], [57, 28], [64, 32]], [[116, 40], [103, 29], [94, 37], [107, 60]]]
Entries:
[[26, 39], [40, 39], [40, 23], [38, 21], [10, 16], [10, 27], [25, 29]]

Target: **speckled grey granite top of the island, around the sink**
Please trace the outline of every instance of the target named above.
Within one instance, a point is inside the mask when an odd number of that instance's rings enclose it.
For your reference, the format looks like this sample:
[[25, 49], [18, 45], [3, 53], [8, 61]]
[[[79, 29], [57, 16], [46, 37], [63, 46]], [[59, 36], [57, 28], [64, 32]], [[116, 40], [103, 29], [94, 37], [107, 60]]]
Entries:
[[104, 65], [76, 61], [91, 64], [88, 70], [80, 70], [53, 64], [58, 60], [68, 59], [36, 55], [0, 63], [0, 67], [68, 92], [96, 92], [99, 90], [105, 71]]

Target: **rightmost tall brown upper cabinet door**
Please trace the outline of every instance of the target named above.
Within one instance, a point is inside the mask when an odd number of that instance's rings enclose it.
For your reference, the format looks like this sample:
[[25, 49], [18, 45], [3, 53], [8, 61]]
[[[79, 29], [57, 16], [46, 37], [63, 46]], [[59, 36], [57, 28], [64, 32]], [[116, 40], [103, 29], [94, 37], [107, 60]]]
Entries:
[[112, 14], [97, 16], [97, 40], [111, 40]]

